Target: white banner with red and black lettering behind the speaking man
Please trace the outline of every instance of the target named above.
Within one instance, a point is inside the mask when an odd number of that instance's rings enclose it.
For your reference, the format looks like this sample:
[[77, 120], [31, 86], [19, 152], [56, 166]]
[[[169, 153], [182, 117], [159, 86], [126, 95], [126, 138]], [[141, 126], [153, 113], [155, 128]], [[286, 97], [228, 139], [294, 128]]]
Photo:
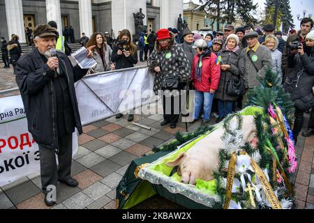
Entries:
[[[74, 132], [73, 155], [77, 147], [77, 133]], [[38, 145], [27, 130], [21, 96], [0, 98], [0, 187], [38, 172]]]

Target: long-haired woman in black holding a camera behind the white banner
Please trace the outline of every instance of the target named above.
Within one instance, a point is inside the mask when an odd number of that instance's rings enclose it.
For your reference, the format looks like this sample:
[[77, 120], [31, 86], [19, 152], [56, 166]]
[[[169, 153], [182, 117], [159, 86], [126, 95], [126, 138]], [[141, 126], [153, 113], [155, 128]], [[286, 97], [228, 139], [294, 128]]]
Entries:
[[[112, 49], [112, 63], [116, 63], [116, 70], [133, 68], [137, 63], [137, 48], [132, 43], [130, 31], [124, 29], [118, 36], [117, 46]], [[123, 114], [117, 114], [116, 118], [121, 118]], [[128, 121], [133, 121], [134, 115], [128, 115]]]

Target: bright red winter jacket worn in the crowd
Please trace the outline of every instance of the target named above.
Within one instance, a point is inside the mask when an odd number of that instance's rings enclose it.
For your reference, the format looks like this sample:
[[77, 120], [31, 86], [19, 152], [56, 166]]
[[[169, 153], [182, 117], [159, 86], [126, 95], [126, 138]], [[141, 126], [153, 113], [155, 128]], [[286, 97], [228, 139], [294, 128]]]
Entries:
[[192, 79], [195, 89], [197, 91], [209, 92], [210, 89], [216, 90], [220, 79], [220, 66], [216, 65], [216, 54], [209, 51], [208, 55], [202, 58], [202, 75], [201, 80], [195, 78], [195, 68], [199, 66], [197, 64], [200, 55], [195, 54], [192, 67]]

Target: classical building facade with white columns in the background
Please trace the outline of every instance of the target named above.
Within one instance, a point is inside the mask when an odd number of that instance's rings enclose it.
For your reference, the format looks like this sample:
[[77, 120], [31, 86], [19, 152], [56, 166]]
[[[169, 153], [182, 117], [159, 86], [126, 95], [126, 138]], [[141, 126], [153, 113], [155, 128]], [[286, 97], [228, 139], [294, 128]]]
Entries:
[[7, 40], [15, 33], [26, 42], [26, 27], [54, 20], [59, 33], [72, 26], [75, 40], [81, 33], [90, 36], [95, 31], [112, 33], [129, 29], [135, 34], [133, 13], [142, 8], [148, 31], [176, 27], [183, 14], [183, 0], [0, 0], [0, 36]]

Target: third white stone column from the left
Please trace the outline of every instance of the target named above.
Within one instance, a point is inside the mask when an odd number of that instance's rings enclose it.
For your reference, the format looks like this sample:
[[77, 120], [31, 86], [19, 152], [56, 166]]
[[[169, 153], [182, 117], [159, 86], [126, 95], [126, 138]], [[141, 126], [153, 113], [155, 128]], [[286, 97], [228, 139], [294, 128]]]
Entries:
[[93, 22], [91, 13], [91, 0], [79, 0], [80, 33], [86, 36], [93, 34]]

